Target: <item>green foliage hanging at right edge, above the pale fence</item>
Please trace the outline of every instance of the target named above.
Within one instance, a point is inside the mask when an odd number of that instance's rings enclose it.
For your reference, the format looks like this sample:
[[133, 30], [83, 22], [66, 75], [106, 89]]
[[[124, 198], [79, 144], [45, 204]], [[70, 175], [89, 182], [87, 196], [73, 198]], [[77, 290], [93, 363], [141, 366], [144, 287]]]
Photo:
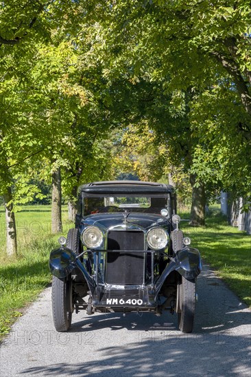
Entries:
[[230, 87], [231, 82], [221, 83], [205, 90], [194, 101], [190, 119], [200, 145], [193, 154], [193, 170], [200, 180], [248, 198], [251, 123]]

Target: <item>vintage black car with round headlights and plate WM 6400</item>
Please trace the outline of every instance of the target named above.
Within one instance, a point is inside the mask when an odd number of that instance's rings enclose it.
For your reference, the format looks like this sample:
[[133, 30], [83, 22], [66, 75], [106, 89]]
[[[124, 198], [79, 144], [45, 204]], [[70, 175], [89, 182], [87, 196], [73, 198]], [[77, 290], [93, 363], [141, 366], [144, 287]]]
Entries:
[[50, 255], [56, 330], [73, 311], [178, 313], [193, 330], [200, 253], [179, 230], [174, 187], [153, 182], [80, 186], [75, 228]]

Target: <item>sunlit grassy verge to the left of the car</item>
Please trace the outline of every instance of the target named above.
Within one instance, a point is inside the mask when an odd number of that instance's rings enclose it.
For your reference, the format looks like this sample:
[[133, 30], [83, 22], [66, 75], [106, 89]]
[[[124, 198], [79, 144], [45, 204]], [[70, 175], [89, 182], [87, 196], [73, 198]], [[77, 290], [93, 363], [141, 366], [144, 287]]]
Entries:
[[[62, 212], [64, 234], [72, 224], [67, 221], [67, 208]], [[7, 334], [23, 308], [36, 299], [51, 280], [49, 253], [56, 247], [58, 236], [51, 234], [50, 206], [27, 206], [16, 214], [19, 254], [5, 256], [4, 213], [0, 211], [0, 339]]]

